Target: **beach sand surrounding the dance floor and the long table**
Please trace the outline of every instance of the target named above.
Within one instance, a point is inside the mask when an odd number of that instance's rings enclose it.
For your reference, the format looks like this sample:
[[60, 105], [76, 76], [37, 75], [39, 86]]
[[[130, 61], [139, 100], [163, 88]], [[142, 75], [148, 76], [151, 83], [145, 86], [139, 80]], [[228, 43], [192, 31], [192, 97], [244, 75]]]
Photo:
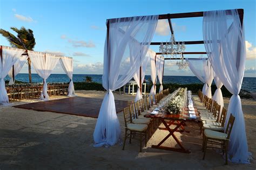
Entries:
[[[103, 91], [76, 91], [78, 96], [103, 98]], [[130, 100], [135, 96], [114, 94], [116, 100]], [[53, 96], [51, 99], [64, 96]], [[227, 108], [228, 98], [224, 99]], [[37, 100], [23, 100], [13, 105]], [[99, 107], [100, 107], [99, 103]], [[242, 100], [249, 151], [256, 154], [256, 101]], [[118, 114], [124, 136], [123, 112]], [[255, 169], [250, 165], [224, 165], [225, 160], [216, 150], [208, 149], [205, 160], [201, 152], [202, 137], [199, 126], [188, 122], [190, 133], [176, 132], [190, 154], [151, 148], [167, 132], [156, 130], [147, 147], [139, 153], [139, 142], [126, 141], [125, 150], [117, 144], [109, 148], [93, 147], [93, 130], [97, 119], [0, 107], [0, 169]], [[163, 125], [161, 125], [163, 126]], [[165, 146], [177, 147], [173, 138]]]

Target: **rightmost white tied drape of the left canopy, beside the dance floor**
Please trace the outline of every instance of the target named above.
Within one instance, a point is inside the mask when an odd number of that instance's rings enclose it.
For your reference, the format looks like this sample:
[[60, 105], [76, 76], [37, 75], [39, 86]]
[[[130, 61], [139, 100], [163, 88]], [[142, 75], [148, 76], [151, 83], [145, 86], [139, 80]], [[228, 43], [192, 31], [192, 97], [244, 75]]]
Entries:
[[69, 97], [76, 96], [75, 88], [74, 88], [74, 84], [73, 84], [73, 59], [70, 57], [61, 56], [59, 61], [60, 61], [60, 65], [62, 65], [62, 68], [64, 69], [66, 75], [68, 75], [68, 77], [70, 79], [68, 96]]

